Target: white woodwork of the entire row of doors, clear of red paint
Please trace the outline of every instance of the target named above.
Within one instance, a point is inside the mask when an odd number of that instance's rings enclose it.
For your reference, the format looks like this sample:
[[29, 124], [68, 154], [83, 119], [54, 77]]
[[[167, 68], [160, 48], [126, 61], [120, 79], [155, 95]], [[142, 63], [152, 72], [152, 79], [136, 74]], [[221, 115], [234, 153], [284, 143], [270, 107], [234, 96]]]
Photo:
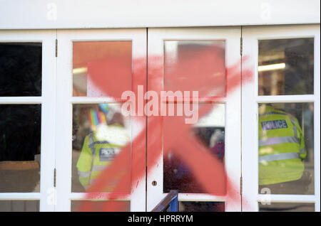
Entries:
[[[41, 97], [0, 97], [0, 104], [41, 104], [40, 192], [0, 193], [0, 200], [40, 200], [40, 211], [70, 211], [71, 200], [83, 200], [86, 195], [86, 193], [71, 192], [72, 104], [113, 102], [113, 99], [72, 97], [72, 41], [132, 41], [133, 59], [135, 59], [146, 58], [146, 45], [148, 45], [148, 55], [163, 56], [165, 40], [225, 40], [227, 45], [225, 64], [226, 67], [230, 67], [240, 60], [240, 31], [241, 28], [237, 26], [148, 28], [148, 43], [146, 43], [146, 28], [0, 31], [0, 43], [41, 42], [43, 65]], [[263, 195], [258, 194], [258, 103], [314, 102], [315, 195], [270, 195], [270, 198], [275, 203], [315, 203], [315, 211], [320, 211], [320, 24], [247, 26], [242, 28], [242, 37], [243, 57], [246, 58], [243, 60], [242, 68], [243, 72], [248, 69], [253, 72], [253, 81], [248, 82], [243, 76], [243, 86], [240, 90], [223, 97], [218, 102], [225, 104], [225, 169], [235, 185], [235, 190], [240, 190], [240, 177], [243, 177], [242, 206], [241, 197], [240, 205], [228, 205], [228, 195], [220, 197], [206, 194], [179, 194], [178, 200], [225, 201], [225, 211], [258, 211], [258, 202], [265, 200]], [[315, 93], [258, 96], [258, 40], [310, 37], [315, 38]], [[56, 38], [58, 58], [55, 57]], [[148, 65], [150, 63], [153, 63], [152, 60], [148, 60]], [[142, 180], [138, 189], [126, 198], [131, 200], [131, 211], [145, 211], [146, 208], [150, 211], [166, 195], [163, 193], [162, 183], [163, 155], [158, 159], [158, 163], [159, 167], [148, 173], [147, 195], [146, 182]], [[54, 188], [54, 168], [56, 168], [56, 188]], [[152, 181], [158, 181], [158, 185], [151, 185]], [[56, 205], [51, 202], [55, 198], [53, 191], [56, 192]]]

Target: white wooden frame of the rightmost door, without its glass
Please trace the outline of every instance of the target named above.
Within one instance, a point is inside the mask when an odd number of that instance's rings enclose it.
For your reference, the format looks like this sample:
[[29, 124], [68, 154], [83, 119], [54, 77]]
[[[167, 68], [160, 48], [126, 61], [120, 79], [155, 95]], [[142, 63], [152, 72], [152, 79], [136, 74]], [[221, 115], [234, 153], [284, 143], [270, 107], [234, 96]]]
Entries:
[[[267, 201], [258, 193], [258, 104], [314, 102], [315, 195], [269, 195], [273, 203], [315, 203], [320, 211], [320, 24], [243, 27], [243, 70], [253, 73], [253, 81], [243, 79], [242, 90], [242, 176], [243, 211], [258, 211], [258, 202]], [[315, 38], [313, 95], [258, 95], [258, 40]]]

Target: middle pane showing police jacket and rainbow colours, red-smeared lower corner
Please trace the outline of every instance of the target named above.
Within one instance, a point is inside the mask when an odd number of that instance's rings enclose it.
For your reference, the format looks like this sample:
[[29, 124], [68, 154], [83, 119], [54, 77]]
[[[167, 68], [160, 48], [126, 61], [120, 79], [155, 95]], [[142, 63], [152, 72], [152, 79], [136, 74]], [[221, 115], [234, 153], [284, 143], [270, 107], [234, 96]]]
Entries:
[[[104, 190], [96, 192], [129, 193], [131, 173], [126, 166], [131, 165], [131, 149], [124, 148], [130, 143], [131, 119], [123, 117], [121, 104], [73, 104], [72, 191], [84, 192], [126, 150], [121, 162], [113, 165], [118, 175], [113, 173]], [[129, 180], [126, 188], [115, 190], [123, 177]]]

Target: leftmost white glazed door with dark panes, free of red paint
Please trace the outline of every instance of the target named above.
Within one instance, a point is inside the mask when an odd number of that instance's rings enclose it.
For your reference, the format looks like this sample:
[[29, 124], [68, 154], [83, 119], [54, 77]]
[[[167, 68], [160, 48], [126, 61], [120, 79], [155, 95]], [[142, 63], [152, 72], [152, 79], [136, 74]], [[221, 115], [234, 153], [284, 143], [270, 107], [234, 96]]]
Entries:
[[53, 211], [56, 31], [0, 31], [0, 211]]

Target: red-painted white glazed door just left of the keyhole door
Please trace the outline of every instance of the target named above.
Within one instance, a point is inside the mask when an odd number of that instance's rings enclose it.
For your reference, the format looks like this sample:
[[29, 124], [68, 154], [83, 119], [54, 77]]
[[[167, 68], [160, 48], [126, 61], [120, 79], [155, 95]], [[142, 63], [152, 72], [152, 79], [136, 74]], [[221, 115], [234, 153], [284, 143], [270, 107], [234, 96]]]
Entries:
[[[145, 211], [145, 136], [135, 139], [146, 119], [123, 115], [121, 96], [146, 88], [146, 29], [58, 30], [57, 40], [56, 210]], [[99, 177], [108, 173], [121, 187]]]

